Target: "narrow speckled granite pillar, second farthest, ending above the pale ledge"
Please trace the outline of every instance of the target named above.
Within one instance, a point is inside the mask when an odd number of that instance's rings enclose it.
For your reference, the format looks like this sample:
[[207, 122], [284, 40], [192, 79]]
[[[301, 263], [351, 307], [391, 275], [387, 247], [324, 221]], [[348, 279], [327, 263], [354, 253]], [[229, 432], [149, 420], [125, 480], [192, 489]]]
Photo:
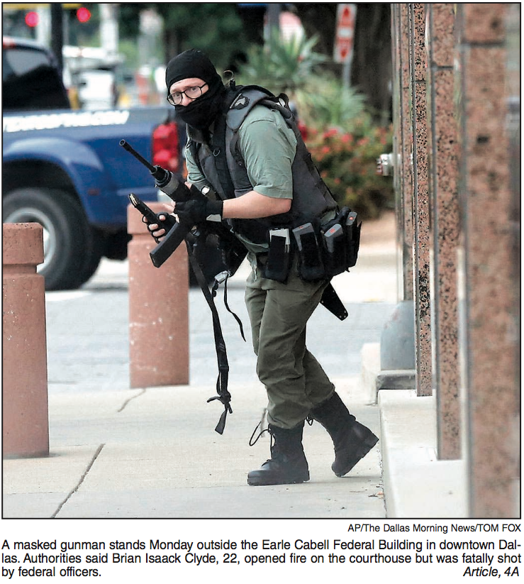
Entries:
[[409, 4], [411, 123], [413, 136], [413, 292], [416, 320], [417, 395], [432, 395], [430, 213], [428, 185], [428, 131], [426, 118], [427, 67], [424, 4]]

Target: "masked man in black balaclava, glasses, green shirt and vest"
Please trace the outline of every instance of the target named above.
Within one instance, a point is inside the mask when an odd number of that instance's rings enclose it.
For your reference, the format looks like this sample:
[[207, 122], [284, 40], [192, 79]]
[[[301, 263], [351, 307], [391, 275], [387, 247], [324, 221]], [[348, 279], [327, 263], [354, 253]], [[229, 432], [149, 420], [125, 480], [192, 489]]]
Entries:
[[[330, 434], [332, 469], [341, 477], [378, 438], [348, 412], [306, 348], [306, 325], [330, 277], [347, 267], [346, 216], [313, 166], [285, 100], [257, 86], [226, 87], [208, 57], [193, 49], [169, 61], [166, 84], [167, 100], [187, 124], [188, 184], [200, 191], [166, 212], [192, 225], [224, 221], [247, 248], [252, 268], [245, 302], [272, 446], [271, 458], [247, 474], [247, 483], [309, 479], [306, 419]], [[158, 224], [149, 229], [158, 238], [165, 234]]]

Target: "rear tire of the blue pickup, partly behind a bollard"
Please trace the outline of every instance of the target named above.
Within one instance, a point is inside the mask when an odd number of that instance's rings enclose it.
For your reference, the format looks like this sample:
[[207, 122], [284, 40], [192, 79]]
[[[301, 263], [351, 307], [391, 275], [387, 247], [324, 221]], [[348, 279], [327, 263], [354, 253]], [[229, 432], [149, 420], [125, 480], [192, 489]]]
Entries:
[[44, 228], [44, 263], [38, 273], [46, 290], [73, 290], [94, 274], [101, 258], [99, 235], [82, 206], [59, 189], [21, 188], [4, 197], [4, 223], [39, 223]]

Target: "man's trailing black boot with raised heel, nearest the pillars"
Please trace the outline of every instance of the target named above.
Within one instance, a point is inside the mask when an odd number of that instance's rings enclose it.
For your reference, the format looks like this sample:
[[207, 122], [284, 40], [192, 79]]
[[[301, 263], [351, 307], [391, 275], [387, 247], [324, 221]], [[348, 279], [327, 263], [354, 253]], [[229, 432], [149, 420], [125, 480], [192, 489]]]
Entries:
[[357, 422], [347, 411], [337, 392], [313, 408], [310, 416], [320, 422], [333, 439], [335, 462], [331, 469], [338, 477], [349, 473], [379, 441], [369, 428]]

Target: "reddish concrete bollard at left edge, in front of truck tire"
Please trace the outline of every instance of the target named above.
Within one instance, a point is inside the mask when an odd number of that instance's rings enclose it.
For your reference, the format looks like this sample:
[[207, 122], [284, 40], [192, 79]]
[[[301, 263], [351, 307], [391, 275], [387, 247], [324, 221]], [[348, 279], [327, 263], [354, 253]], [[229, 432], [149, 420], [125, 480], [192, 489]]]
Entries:
[[2, 226], [4, 302], [2, 455], [48, 456], [48, 360], [45, 340], [43, 228]]

